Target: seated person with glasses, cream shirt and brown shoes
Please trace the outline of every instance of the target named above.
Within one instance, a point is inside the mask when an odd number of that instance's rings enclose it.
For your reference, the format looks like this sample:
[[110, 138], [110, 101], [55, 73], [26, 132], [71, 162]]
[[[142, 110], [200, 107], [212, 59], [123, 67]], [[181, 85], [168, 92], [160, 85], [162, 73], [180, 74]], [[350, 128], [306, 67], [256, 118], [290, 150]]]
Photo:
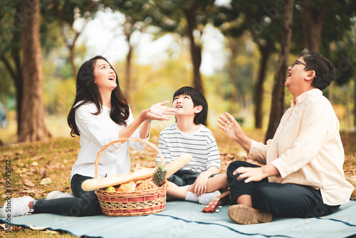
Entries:
[[266, 145], [244, 135], [229, 113], [219, 117], [219, 128], [248, 152], [248, 159], [263, 165], [235, 161], [226, 170], [232, 202], [228, 214], [234, 222], [320, 217], [348, 202], [353, 187], [342, 170], [340, 125], [322, 92], [334, 78], [327, 58], [302, 51], [285, 83], [294, 99]]

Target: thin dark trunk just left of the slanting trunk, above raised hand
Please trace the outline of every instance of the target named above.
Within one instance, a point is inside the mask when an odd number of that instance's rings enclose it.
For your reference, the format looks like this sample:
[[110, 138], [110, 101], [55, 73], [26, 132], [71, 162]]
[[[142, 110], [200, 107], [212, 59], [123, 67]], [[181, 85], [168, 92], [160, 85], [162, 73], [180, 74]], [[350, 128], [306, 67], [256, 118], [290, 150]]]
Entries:
[[267, 62], [271, 54], [271, 43], [266, 43], [262, 45], [258, 43], [258, 48], [261, 52], [261, 61], [260, 61], [260, 71], [258, 73], [258, 80], [255, 88], [255, 128], [262, 128], [263, 115], [262, 115], [262, 105], [263, 105], [263, 83], [266, 77]]

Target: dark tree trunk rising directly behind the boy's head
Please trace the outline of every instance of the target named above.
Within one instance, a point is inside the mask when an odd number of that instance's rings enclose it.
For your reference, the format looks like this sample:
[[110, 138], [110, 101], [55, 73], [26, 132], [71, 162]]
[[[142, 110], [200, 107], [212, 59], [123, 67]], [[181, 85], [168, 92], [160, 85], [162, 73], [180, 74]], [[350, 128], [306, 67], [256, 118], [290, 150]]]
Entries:
[[194, 9], [194, 6], [192, 6], [192, 9], [185, 9], [184, 14], [187, 19], [187, 35], [189, 37], [190, 41], [190, 53], [192, 56], [192, 63], [193, 63], [193, 87], [199, 92], [201, 92], [204, 95], [204, 86], [203, 82], [201, 81], [201, 74], [200, 74], [200, 65], [201, 65], [201, 45], [200, 43], [196, 43], [194, 41], [194, 35], [193, 31], [194, 29], [197, 29], [197, 21], [196, 21], [196, 11]]

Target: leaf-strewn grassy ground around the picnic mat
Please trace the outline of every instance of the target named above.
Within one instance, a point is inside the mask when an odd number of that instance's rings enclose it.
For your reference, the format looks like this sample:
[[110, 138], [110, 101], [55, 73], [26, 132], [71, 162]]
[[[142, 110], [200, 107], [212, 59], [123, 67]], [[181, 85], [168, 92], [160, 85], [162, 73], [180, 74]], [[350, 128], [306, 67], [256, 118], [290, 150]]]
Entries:
[[[221, 169], [226, 170], [233, 160], [244, 160], [246, 152], [229, 140], [221, 130], [213, 131], [221, 153]], [[261, 130], [245, 130], [249, 137], [263, 141]], [[341, 133], [345, 148], [345, 176], [356, 175], [356, 133]], [[152, 143], [158, 142], [158, 130], [153, 130]], [[6, 166], [11, 167], [11, 196], [31, 196], [35, 199], [46, 197], [48, 192], [59, 190], [70, 192], [70, 170], [79, 151], [79, 138], [51, 138], [45, 142], [9, 143], [0, 147], [0, 202], [6, 201]], [[131, 152], [131, 167], [155, 166], [155, 151], [147, 148], [143, 152]], [[11, 161], [11, 165], [6, 163]], [[50, 179], [43, 183], [43, 179]], [[41, 182], [42, 181], [42, 182]], [[11, 237], [73, 237], [68, 233], [55, 234], [36, 231], [25, 227], [12, 227]], [[0, 236], [9, 235], [1, 229]]]

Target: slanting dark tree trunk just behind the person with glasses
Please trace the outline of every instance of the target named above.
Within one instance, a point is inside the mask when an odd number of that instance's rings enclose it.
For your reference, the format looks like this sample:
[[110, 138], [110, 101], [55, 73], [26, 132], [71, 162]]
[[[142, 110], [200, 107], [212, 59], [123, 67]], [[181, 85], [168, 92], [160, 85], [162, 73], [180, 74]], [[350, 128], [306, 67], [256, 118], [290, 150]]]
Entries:
[[276, 133], [278, 124], [284, 113], [284, 82], [286, 81], [286, 71], [288, 68], [287, 62], [290, 49], [290, 41], [292, 38], [293, 7], [294, 0], [286, 1], [286, 9], [284, 10], [283, 14], [281, 53], [278, 58], [276, 75], [274, 76], [271, 114], [268, 130], [266, 133], [266, 141], [273, 138], [273, 135]]

